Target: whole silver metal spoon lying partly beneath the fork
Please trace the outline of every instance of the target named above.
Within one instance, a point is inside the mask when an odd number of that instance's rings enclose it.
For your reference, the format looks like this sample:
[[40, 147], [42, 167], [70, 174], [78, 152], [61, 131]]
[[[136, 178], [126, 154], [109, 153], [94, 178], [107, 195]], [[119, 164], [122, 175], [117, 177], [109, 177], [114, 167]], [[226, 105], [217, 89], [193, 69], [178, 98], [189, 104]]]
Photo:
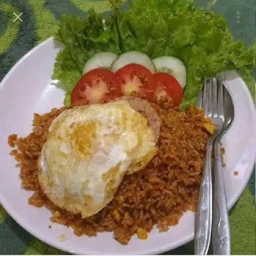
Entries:
[[212, 249], [215, 255], [230, 255], [230, 230], [221, 157], [221, 138], [228, 131], [233, 118], [233, 102], [224, 86], [224, 124], [221, 134], [214, 141], [215, 162], [211, 234]]

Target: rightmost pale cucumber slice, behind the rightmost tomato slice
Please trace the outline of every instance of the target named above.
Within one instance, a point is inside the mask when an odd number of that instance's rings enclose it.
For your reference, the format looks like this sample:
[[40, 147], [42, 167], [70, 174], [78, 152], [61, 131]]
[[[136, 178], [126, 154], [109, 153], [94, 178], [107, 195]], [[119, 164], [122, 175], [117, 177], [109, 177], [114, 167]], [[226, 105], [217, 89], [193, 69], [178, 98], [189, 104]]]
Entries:
[[174, 76], [181, 87], [186, 85], [186, 68], [183, 62], [172, 56], [161, 56], [152, 60], [156, 66], [157, 72], [165, 72]]

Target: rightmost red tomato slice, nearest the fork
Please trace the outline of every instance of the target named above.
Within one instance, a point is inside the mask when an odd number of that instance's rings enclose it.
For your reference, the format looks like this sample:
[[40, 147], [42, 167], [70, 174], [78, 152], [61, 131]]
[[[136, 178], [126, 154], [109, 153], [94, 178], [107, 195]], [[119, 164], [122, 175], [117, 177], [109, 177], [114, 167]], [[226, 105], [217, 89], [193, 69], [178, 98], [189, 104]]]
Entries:
[[182, 88], [175, 77], [168, 73], [155, 73], [152, 75], [152, 87], [155, 88], [154, 98], [168, 96], [173, 99], [174, 106], [179, 106], [182, 101]]

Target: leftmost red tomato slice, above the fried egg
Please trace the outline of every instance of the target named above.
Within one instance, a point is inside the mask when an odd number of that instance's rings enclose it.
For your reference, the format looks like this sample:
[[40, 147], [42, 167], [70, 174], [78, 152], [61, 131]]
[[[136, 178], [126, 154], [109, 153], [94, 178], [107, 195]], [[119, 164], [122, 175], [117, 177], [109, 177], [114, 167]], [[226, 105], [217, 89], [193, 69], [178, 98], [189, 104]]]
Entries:
[[115, 73], [93, 69], [84, 74], [71, 92], [71, 103], [94, 104], [120, 97], [121, 83]]

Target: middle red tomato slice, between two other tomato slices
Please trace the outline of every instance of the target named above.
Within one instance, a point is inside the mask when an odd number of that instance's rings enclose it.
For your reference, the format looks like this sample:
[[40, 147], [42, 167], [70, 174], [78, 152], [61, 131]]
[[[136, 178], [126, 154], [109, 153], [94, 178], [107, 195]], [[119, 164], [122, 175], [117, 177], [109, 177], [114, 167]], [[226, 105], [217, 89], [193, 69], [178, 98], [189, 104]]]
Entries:
[[116, 72], [121, 80], [121, 91], [123, 95], [131, 95], [136, 92], [139, 97], [152, 98], [154, 90], [151, 88], [152, 73], [142, 65], [129, 64]]

